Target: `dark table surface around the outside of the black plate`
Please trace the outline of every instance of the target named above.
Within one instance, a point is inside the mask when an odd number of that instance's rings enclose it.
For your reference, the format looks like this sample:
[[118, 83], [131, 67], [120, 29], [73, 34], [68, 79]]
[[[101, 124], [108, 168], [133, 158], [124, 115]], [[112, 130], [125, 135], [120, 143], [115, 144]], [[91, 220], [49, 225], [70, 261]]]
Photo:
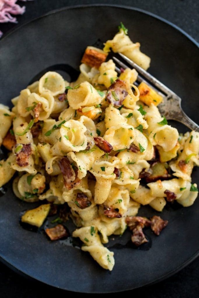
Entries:
[[[199, 1], [197, 0], [132, 0], [132, 1], [68, 1], [68, 0], [35, 0], [30, 2], [18, 1], [18, 4], [26, 5], [26, 13], [17, 16], [18, 25], [21, 25], [33, 18], [41, 16], [50, 10], [58, 9], [68, 5], [106, 3], [120, 4], [132, 7], [142, 8], [156, 15], [159, 15], [168, 21], [174, 23], [196, 41], [199, 41]], [[18, 26], [16, 24], [0, 24], [0, 30], [4, 34]], [[1, 43], [0, 43], [1, 50]], [[53, 268], [52, 268], [53, 270]], [[146, 298], [185, 298], [199, 297], [198, 294], [198, 276], [199, 276], [199, 258], [189, 264], [172, 277], [145, 288], [125, 292], [137, 296], [145, 295]], [[133, 277], [132, 277], [133, 278]], [[66, 291], [52, 288], [38, 281], [29, 280], [10, 268], [0, 263], [0, 297], [17, 297], [17, 298], [39, 298], [69, 294]], [[56, 295], [56, 296], [55, 296]]]

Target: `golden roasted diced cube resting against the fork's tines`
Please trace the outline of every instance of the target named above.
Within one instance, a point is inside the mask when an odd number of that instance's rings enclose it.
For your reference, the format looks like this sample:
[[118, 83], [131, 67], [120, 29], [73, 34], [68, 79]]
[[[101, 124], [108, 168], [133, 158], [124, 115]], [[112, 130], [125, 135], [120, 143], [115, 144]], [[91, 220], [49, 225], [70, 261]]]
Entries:
[[142, 82], [138, 89], [140, 91], [140, 100], [145, 103], [145, 105], [158, 105], [162, 102], [163, 97], [158, 94], [154, 89], [149, 87], [146, 83]]

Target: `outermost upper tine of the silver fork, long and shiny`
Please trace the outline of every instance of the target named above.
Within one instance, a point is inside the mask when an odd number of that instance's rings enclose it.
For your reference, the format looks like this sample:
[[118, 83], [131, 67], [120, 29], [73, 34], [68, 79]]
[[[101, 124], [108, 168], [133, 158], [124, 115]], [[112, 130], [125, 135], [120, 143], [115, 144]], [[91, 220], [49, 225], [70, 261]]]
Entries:
[[[175, 94], [173, 91], [171, 91], [169, 88], [167, 88], [163, 83], [158, 81], [155, 77], [150, 75], [148, 72], [146, 72], [144, 69], [142, 69], [140, 66], [138, 66], [135, 62], [127, 58], [125, 55], [118, 53], [125, 61], [127, 61], [133, 68], [137, 70], [139, 74], [141, 74], [145, 79], [149, 80], [152, 84], [154, 84], [158, 89], [160, 89], [162, 92], [164, 92], [166, 95]], [[117, 58], [116, 58], [117, 59]], [[117, 62], [120, 61], [117, 59]], [[119, 63], [119, 62], [118, 62]], [[120, 63], [122, 63], [120, 61]], [[124, 63], [122, 63], [124, 64]], [[121, 65], [121, 64], [120, 64]], [[125, 64], [124, 64], [125, 65]], [[126, 66], [127, 67], [127, 66]]]

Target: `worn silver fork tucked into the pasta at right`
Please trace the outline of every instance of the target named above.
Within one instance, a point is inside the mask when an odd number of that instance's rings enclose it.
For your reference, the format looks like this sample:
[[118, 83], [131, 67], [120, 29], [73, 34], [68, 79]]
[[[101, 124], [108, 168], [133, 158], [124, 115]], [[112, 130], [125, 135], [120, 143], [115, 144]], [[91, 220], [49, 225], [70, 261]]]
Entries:
[[[192, 119], [190, 119], [181, 108], [181, 98], [175, 94], [172, 90], [166, 87], [163, 83], [158, 81], [155, 77], [150, 75], [132, 60], [127, 58], [125, 55], [119, 53], [119, 55], [138, 72], [138, 83], [145, 82], [147, 85], [155, 89], [159, 94], [163, 96], [163, 102], [158, 105], [160, 114], [166, 117], [168, 120], [176, 120], [183, 123], [191, 130], [199, 131], [199, 125], [196, 124]], [[126, 64], [122, 63], [116, 57], [113, 60], [119, 64], [123, 69], [128, 68]], [[121, 73], [121, 70], [116, 67], [116, 71]]]

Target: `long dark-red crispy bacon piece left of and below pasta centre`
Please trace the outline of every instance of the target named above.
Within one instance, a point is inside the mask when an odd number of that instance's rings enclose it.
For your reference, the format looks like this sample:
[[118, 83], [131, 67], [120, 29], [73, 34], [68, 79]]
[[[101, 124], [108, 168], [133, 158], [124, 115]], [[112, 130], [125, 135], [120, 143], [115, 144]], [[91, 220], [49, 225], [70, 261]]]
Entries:
[[73, 187], [81, 183], [81, 180], [78, 178], [78, 170], [75, 167], [72, 169], [69, 159], [64, 156], [59, 162], [59, 168], [64, 178], [64, 184], [67, 190], [71, 190]]

